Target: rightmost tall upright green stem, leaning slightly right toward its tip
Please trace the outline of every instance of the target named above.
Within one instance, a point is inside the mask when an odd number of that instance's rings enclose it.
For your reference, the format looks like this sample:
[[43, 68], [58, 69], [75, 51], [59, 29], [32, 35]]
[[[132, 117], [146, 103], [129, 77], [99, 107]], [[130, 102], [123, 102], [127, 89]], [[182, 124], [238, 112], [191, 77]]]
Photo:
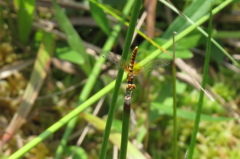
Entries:
[[[209, 61], [210, 61], [210, 55], [211, 55], [211, 37], [212, 37], [212, 10], [210, 11], [207, 50], [206, 50], [206, 58], [205, 58], [204, 70], [203, 70], [203, 80], [202, 80], [202, 88], [203, 89], [205, 89], [206, 84], [207, 84], [208, 68], [209, 68]], [[197, 114], [196, 114], [196, 118], [195, 118], [194, 129], [193, 129], [191, 143], [190, 143], [190, 147], [189, 147], [189, 151], [188, 151], [188, 159], [192, 159], [192, 157], [193, 157], [198, 127], [199, 127], [199, 123], [200, 123], [200, 119], [201, 119], [203, 97], [204, 97], [204, 92], [201, 90], [200, 96], [199, 96]]]

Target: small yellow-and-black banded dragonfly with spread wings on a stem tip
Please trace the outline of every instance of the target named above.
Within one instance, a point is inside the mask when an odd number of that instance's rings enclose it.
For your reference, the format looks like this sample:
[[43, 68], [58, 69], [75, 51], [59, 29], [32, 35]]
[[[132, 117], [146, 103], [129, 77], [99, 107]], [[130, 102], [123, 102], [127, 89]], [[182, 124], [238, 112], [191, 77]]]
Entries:
[[117, 64], [121, 69], [123, 69], [127, 73], [127, 88], [126, 94], [131, 95], [132, 91], [136, 88], [134, 84], [134, 77], [142, 74], [143, 72], [151, 71], [154, 68], [167, 66], [170, 63], [170, 60], [167, 59], [159, 59], [153, 60], [142, 66], [139, 63], [135, 62], [136, 56], [138, 52], [138, 46], [136, 46], [132, 52], [132, 56], [130, 58], [129, 63], [125, 60], [117, 61], [114, 58], [108, 58], [107, 60]]

